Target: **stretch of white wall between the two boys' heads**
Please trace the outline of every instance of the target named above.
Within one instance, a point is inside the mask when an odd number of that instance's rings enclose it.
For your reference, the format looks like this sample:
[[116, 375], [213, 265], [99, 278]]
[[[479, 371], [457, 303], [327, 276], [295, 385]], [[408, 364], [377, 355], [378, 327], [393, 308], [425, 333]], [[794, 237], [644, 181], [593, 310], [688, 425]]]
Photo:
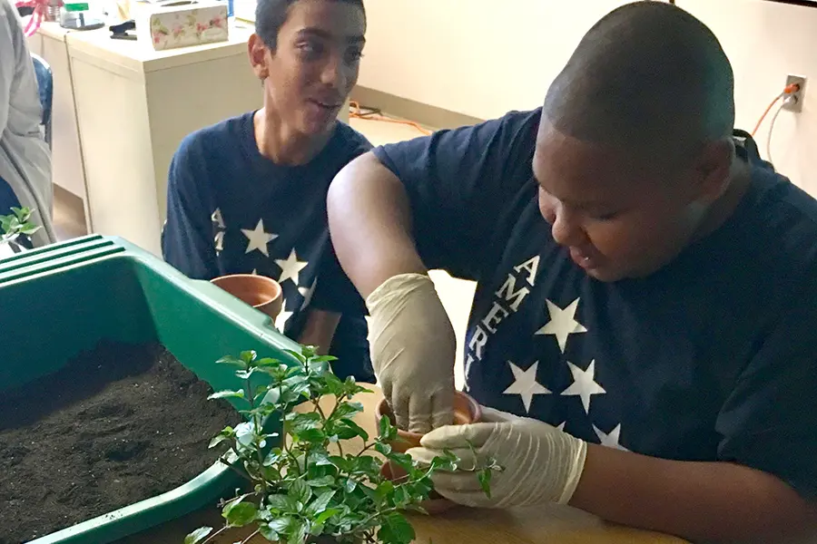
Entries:
[[586, 30], [624, 4], [367, 0], [359, 84], [483, 119], [536, 108]]

